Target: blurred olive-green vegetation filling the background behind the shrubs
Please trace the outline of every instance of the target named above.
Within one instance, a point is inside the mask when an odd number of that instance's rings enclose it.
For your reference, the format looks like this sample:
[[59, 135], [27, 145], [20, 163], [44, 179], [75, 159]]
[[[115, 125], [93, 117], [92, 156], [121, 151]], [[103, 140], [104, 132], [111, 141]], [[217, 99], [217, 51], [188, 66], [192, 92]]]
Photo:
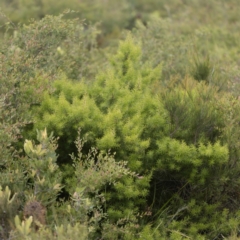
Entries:
[[65, 18], [78, 17], [85, 28], [97, 24], [96, 44], [105, 48], [102, 57], [116, 51], [118, 40], [131, 30], [142, 41], [143, 60], [163, 63], [167, 79], [186, 73], [201, 78], [194, 71], [207, 66], [208, 76], [203, 77], [214, 81], [217, 75], [218, 85], [235, 94], [239, 89], [240, 4], [236, 0], [2, 0], [0, 9], [2, 37], [18, 24], [70, 9], [74, 12]]

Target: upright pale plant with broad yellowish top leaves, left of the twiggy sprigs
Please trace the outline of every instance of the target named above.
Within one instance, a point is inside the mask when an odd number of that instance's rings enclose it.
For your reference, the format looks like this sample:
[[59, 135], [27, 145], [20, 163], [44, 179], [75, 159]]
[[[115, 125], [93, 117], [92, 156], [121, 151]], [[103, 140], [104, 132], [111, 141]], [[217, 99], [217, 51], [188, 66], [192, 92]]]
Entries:
[[56, 140], [52, 138], [52, 135], [47, 136], [46, 129], [38, 132], [37, 140], [40, 143], [38, 145], [30, 140], [25, 140], [26, 173], [29, 176], [28, 181], [32, 185], [31, 192], [34, 198], [47, 206], [50, 202], [56, 201], [57, 194], [61, 190], [61, 173], [56, 164]]

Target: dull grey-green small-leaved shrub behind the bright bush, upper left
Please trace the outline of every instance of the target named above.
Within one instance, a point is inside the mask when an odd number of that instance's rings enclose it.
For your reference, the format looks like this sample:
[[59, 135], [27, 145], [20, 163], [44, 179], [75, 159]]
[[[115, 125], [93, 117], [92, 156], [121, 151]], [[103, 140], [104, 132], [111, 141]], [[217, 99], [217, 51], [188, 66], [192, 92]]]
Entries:
[[6, 36], [0, 51], [2, 146], [23, 144], [22, 129], [32, 124], [31, 108], [42, 101], [44, 91], [52, 91], [55, 78], [91, 81], [99, 57], [96, 34], [94, 26], [60, 15], [19, 26], [14, 36]]

